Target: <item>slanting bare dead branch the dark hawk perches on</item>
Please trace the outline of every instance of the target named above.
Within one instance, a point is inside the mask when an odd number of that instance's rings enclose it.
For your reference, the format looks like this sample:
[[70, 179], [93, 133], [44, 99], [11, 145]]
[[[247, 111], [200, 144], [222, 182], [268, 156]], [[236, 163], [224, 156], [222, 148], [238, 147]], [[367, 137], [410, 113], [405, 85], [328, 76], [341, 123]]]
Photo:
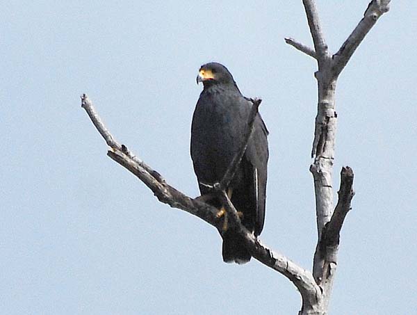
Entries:
[[[258, 111], [258, 106], [261, 104], [260, 100], [254, 100], [253, 102], [254, 108], [250, 114], [247, 140], [249, 140], [250, 137], [252, 129], [251, 124], [253, 124], [254, 117]], [[187, 211], [188, 213], [206, 221], [206, 223], [213, 225], [213, 227], [218, 229], [219, 232], [222, 231], [222, 220], [216, 216], [218, 209], [210, 204], [206, 204], [206, 202], [200, 200], [198, 197], [195, 199], [190, 198], [170, 186], [158, 172], [131, 154], [131, 152], [129, 152], [124, 145], [120, 145], [120, 143], [118, 143], [111, 135], [110, 131], [108, 131], [108, 129], [104, 126], [104, 123], [101, 121], [97, 111], [95, 111], [92, 102], [85, 94], [81, 95], [81, 106], [85, 109], [85, 111], [87, 111], [90, 116], [90, 120], [95, 125], [104, 140], [106, 140], [106, 143], [110, 146], [110, 150], [108, 150], [107, 155], [110, 156], [111, 159], [132, 172], [133, 175], [136, 175], [138, 179], [151, 189], [160, 202], [169, 204], [173, 208]], [[241, 148], [243, 152], [245, 151], [245, 148], [246, 146]], [[234, 159], [234, 163], [231, 163], [229, 168], [235, 168], [236, 165], [234, 164], [240, 163], [241, 158], [241, 154], [237, 154]], [[232, 173], [233, 170], [229, 172]], [[227, 180], [227, 178], [224, 180]], [[320, 298], [320, 288], [314, 281], [311, 272], [298, 266], [284, 255], [274, 252], [265, 245], [262, 245], [261, 242], [240, 223], [237, 211], [233, 207], [233, 204], [231, 204], [227, 195], [223, 192], [221, 196], [226, 197], [226, 199], [224, 199], [224, 203], [227, 207], [227, 213], [230, 214], [229, 225], [237, 227], [237, 231], [245, 239], [245, 244], [251, 255], [265, 266], [268, 266], [288, 277], [288, 279], [295, 284], [297, 289], [302, 294], [303, 301], [306, 301], [306, 305], [316, 303], [316, 299]], [[313, 298], [313, 300], [310, 300], [311, 298]]]

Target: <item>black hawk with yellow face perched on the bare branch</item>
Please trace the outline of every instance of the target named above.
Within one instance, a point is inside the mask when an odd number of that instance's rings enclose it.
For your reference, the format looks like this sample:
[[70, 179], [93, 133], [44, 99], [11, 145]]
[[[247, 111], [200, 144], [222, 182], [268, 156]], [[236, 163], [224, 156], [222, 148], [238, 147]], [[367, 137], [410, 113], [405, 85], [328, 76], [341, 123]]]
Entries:
[[[210, 197], [213, 194], [208, 185], [221, 181], [242, 147], [253, 104], [242, 95], [227, 67], [220, 63], [202, 65], [198, 83], [203, 83], [203, 90], [193, 113], [190, 154], [202, 197], [209, 196], [207, 202], [219, 209], [218, 216], [224, 216], [226, 223], [227, 213], [218, 197]], [[267, 136], [268, 129], [257, 113], [243, 158], [226, 189], [241, 223], [256, 237], [261, 234], [265, 220]], [[224, 224], [220, 235], [224, 262], [245, 264], [250, 261], [250, 252], [236, 229]]]

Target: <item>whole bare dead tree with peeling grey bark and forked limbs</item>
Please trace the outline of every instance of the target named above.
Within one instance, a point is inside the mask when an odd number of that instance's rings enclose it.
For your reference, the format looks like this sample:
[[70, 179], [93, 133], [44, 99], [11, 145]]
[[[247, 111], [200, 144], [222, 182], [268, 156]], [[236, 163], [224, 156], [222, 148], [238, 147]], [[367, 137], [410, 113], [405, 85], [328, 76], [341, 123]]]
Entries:
[[[338, 191], [338, 202], [334, 207], [333, 201], [333, 161], [334, 143], [336, 138], [337, 115], [335, 111], [335, 90], [339, 74], [350, 60], [355, 49], [363, 38], [375, 25], [377, 19], [389, 10], [391, 0], [373, 0], [366, 8], [363, 18], [345, 40], [336, 54], [330, 54], [325, 36], [320, 26], [320, 19], [314, 0], [303, 0], [306, 17], [309, 23], [314, 49], [303, 45], [292, 38], [286, 38], [287, 44], [317, 60], [318, 71], [315, 73], [318, 81], [318, 113], [316, 116], [316, 128], [314, 131], [313, 148], [311, 157], [313, 163], [310, 171], [313, 174], [316, 193], [316, 218], [318, 230], [318, 242], [313, 258], [313, 271], [305, 270], [293, 261], [274, 252], [256, 239], [241, 223], [234, 205], [224, 192], [224, 188], [233, 177], [240, 160], [245, 152], [247, 140], [252, 133], [254, 117], [258, 111], [260, 99], [252, 99], [252, 113], [248, 120], [246, 143], [236, 154], [234, 160], [224, 175], [222, 181], [213, 186], [215, 193], [222, 197], [227, 210], [229, 225], [233, 225], [245, 239], [245, 245], [251, 255], [288, 278], [302, 296], [302, 307], [299, 315], [327, 314], [329, 300], [332, 295], [334, 275], [336, 274], [338, 245], [341, 227], [347, 212], [351, 209], [351, 201], [354, 196], [352, 189], [353, 171], [344, 167], [341, 170], [341, 186]], [[208, 224], [213, 225], [219, 232], [222, 231], [222, 220], [218, 218], [218, 209], [204, 202], [204, 198], [191, 198], [181, 193], [176, 188], [167, 184], [165, 179], [153, 170], [144, 161], [138, 159], [125, 145], [115, 140], [106, 129], [99, 115], [95, 111], [92, 102], [87, 95], [81, 96], [82, 107], [87, 111], [93, 124], [106, 140], [110, 147], [107, 155], [127, 170], [136, 175], [147, 185], [158, 200], [169, 204], [171, 207], [191, 213]]]

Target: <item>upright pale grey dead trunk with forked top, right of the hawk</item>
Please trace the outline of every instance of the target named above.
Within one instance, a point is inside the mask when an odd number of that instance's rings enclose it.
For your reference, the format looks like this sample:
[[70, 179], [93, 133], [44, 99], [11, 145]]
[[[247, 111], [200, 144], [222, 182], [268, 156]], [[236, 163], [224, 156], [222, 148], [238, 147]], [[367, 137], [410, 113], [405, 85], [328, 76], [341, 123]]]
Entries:
[[[310, 171], [314, 179], [316, 195], [316, 218], [318, 243], [313, 259], [313, 276], [322, 291], [321, 305], [300, 311], [304, 314], [326, 314], [337, 266], [337, 252], [340, 232], [352, 197], [353, 171], [346, 167], [341, 171], [341, 189], [338, 204], [333, 203], [333, 161], [336, 140], [337, 114], [335, 111], [335, 90], [339, 74], [347, 65], [355, 49], [372, 29], [377, 19], [389, 10], [390, 0], [370, 1], [363, 19], [345, 40], [341, 48], [331, 56], [322, 32], [316, 1], [303, 0], [307, 21], [313, 39], [314, 51], [299, 42], [286, 38], [286, 43], [316, 58], [318, 71], [318, 112], [314, 130], [311, 157], [314, 159]], [[311, 309], [315, 309], [311, 311]]]

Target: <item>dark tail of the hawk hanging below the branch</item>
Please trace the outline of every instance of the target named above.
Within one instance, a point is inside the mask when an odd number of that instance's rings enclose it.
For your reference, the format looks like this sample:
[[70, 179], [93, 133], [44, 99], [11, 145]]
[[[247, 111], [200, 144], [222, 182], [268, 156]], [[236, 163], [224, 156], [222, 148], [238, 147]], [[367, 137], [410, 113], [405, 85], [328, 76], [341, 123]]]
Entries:
[[245, 241], [242, 236], [231, 229], [223, 234], [222, 255], [224, 262], [236, 262], [237, 264], [245, 264], [250, 261], [251, 257], [245, 248]]

